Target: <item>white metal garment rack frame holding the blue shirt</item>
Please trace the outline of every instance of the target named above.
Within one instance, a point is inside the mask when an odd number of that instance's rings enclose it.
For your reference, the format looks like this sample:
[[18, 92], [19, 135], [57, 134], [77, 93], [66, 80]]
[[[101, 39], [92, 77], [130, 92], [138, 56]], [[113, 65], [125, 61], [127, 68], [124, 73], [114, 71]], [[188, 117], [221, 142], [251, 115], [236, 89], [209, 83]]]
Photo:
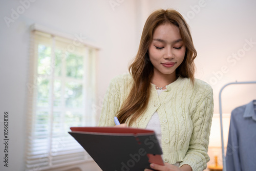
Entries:
[[222, 105], [221, 105], [221, 93], [225, 87], [230, 84], [251, 84], [256, 83], [256, 81], [246, 81], [246, 82], [230, 82], [225, 84], [220, 90], [219, 93], [219, 105], [220, 105], [220, 121], [221, 121], [221, 148], [222, 148], [222, 162], [223, 162], [223, 171], [226, 171], [226, 159], [225, 159], [225, 150], [224, 150], [224, 140], [223, 140], [223, 126], [222, 126]]

